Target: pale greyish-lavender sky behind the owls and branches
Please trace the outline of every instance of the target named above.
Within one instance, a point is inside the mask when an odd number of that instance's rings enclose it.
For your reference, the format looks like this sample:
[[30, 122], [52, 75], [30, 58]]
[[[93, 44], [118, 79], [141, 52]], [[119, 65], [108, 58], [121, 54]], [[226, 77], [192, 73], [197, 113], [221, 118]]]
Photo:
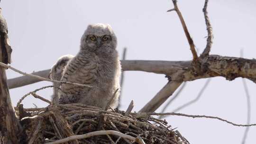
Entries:
[[[190, 34], [201, 52], [206, 45], [207, 31], [203, 18], [204, 0], [178, 0]], [[118, 37], [118, 51], [128, 47], [129, 60], [191, 60], [186, 37], [171, 0], [1, 0], [0, 7], [9, 27], [13, 48], [13, 67], [23, 72], [51, 68], [64, 54], [76, 54], [80, 38], [88, 24], [108, 23]], [[256, 1], [210, 0], [209, 16], [214, 43], [210, 54], [256, 58]], [[20, 76], [7, 71], [8, 78]], [[194, 99], [205, 79], [188, 82], [167, 112]], [[251, 123], [256, 123], [256, 84], [247, 81], [251, 98]], [[121, 110], [133, 99], [134, 110], [142, 108], [165, 85], [165, 75], [147, 72], [125, 72]], [[10, 90], [13, 105], [29, 91], [51, 85], [38, 82]], [[51, 89], [38, 92], [50, 99]], [[28, 97], [26, 108], [45, 107], [47, 104]], [[161, 111], [162, 107], [157, 110]], [[212, 78], [201, 99], [179, 111], [185, 114], [210, 115], [246, 124], [246, 94], [241, 78], [227, 81]], [[245, 127], [229, 125], [205, 118], [168, 117], [167, 121], [191, 144], [239, 144]], [[255, 144], [256, 127], [250, 127], [247, 144]]]

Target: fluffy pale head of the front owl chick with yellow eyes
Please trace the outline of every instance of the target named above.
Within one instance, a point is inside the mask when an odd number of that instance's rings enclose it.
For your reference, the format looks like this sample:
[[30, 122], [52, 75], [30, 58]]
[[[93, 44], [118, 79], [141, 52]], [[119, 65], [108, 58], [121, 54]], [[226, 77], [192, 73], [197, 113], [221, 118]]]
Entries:
[[117, 47], [117, 37], [108, 24], [91, 24], [81, 38], [81, 49], [91, 52], [112, 52]]

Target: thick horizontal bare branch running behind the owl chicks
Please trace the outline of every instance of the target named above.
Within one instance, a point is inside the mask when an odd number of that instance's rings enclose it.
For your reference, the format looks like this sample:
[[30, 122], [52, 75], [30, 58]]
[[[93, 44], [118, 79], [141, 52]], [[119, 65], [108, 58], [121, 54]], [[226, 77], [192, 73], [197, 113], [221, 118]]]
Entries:
[[[181, 77], [176, 78], [176, 81], [194, 81], [202, 78], [210, 77], [225, 77], [231, 81], [235, 78], [242, 77], [256, 82], [256, 60], [245, 59], [238, 57], [228, 57], [219, 55], [209, 55], [205, 62], [205, 73], [202, 75], [194, 75], [193, 68], [191, 66], [192, 61], [146, 61], [146, 60], [124, 60], [121, 61], [123, 71], [143, 71], [154, 72], [160, 74], [166, 74], [173, 76], [177, 72], [182, 72]], [[42, 75], [48, 75], [49, 71], [41, 71]], [[27, 78], [25, 76], [14, 78], [15, 83], [22, 83], [26, 81], [26, 84], [31, 84], [29, 81], [34, 81], [37, 78]], [[13, 81], [10, 79], [9, 81]], [[172, 77], [173, 79], [173, 77]], [[41, 79], [38, 81], [42, 81]], [[13, 85], [10, 87], [14, 88]], [[21, 86], [21, 85], [20, 85]], [[24, 85], [22, 85], [24, 86]]]

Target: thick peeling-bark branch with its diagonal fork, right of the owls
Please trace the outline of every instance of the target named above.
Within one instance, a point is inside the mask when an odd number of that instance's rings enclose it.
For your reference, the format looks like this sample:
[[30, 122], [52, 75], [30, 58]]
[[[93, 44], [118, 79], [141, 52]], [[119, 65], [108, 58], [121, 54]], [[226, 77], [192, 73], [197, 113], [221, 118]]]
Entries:
[[[201, 66], [204, 73], [199, 75], [192, 66], [192, 61], [143, 61], [125, 60], [121, 61], [123, 71], [143, 71], [166, 74], [172, 81], [158, 92], [157, 97], [153, 98], [142, 110], [157, 109], [165, 100], [177, 89], [183, 81], [194, 81], [202, 78], [221, 76], [231, 81], [242, 77], [256, 82], [256, 60], [237, 57], [209, 55], [205, 58]], [[19, 79], [23, 79], [22, 77]], [[29, 78], [27, 81], [31, 81]], [[21, 81], [16, 81], [19, 83]], [[170, 86], [172, 85], [172, 86]], [[174, 86], [174, 87], [173, 87]], [[168, 90], [173, 87], [171, 90]], [[158, 95], [161, 98], [158, 102]], [[155, 101], [152, 103], [152, 101]], [[156, 105], [155, 105], [156, 104]], [[145, 111], [150, 112], [150, 111]]]

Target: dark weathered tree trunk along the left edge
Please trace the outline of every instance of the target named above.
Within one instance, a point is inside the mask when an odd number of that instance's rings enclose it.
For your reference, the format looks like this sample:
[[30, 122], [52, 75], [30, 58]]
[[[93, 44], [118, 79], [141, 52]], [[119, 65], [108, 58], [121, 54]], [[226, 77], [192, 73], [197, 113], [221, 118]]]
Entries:
[[[10, 63], [12, 49], [9, 45], [7, 23], [0, 9], [0, 62]], [[12, 107], [5, 68], [0, 67], [0, 144], [18, 144], [21, 126]]]

